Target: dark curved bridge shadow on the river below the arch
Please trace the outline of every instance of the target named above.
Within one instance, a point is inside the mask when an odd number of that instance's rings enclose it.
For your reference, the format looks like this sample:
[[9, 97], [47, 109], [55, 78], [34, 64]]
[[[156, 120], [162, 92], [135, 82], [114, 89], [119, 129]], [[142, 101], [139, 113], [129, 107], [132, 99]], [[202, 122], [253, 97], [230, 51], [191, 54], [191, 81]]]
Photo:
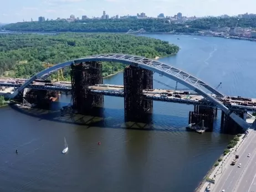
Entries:
[[[90, 115], [79, 115], [76, 113], [62, 115], [59, 108], [43, 110], [40, 108], [23, 108], [10, 105], [13, 110], [41, 120], [60, 123], [77, 124], [85, 128], [122, 128], [136, 129], [141, 131], [163, 131], [163, 132], [185, 132], [187, 117], [161, 115], [147, 113], [141, 122], [125, 122], [124, 109], [94, 107]], [[173, 120], [173, 121], [172, 121]]]

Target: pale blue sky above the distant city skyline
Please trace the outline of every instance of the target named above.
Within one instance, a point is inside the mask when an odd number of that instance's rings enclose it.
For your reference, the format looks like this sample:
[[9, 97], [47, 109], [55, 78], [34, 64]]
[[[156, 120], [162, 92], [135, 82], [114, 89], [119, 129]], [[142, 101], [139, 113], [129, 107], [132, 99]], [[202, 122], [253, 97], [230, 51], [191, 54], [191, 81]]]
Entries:
[[[1, 2], [2, 1], [2, 2]], [[237, 15], [255, 13], [256, 0], [1, 0], [0, 23], [16, 23], [45, 19], [100, 17], [103, 11], [112, 15], [136, 15], [144, 12], [149, 17], [158, 14], [203, 17], [207, 15]]]

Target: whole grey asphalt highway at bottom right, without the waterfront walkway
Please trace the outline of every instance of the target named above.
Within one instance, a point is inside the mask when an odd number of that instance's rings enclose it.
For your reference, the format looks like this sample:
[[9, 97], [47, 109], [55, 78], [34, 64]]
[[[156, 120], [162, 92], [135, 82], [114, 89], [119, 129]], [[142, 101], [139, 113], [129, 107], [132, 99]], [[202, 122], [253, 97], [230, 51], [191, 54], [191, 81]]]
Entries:
[[[250, 157], [247, 157], [248, 154]], [[239, 159], [235, 165], [229, 162], [223, 167], [221, 178], [218, 179], [211, 192], [256, 192], [256, 132], [252, 131], [245, 138], [237, 153]], [[235, 154], [233, 154], [233, 157]], [[241, 167], [238, 168], [238, 164]]]

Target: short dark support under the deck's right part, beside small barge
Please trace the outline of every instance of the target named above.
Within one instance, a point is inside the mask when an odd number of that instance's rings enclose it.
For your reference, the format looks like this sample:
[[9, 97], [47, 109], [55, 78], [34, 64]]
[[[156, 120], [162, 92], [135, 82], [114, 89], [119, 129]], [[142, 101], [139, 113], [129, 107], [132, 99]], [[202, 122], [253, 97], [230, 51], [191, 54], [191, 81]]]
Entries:
[[188, 124], [199, 123], [204, 120], [204, 127], [209, 130], [213, 129], [214, 119], [217, 117], [217, 108], [215, 107], [204, 107], [194, 106], [194, 111], [190, 111], [188, 117]]

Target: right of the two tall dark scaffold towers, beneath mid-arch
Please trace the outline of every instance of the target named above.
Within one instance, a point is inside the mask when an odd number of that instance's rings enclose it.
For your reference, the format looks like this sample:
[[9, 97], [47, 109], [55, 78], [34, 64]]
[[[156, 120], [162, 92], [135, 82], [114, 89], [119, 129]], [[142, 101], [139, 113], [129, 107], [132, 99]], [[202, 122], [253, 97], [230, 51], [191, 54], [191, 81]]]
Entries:
[[[145, 100], [143, 89], [152, 89], [152, 73], [148, 70], [127, 66], [124, 70], [125, 121], [142, 122], [152, 101]], [[144, 88], [145, 87], [145, 88]], [[147, 89], [149, 89], [147, 88]]]

